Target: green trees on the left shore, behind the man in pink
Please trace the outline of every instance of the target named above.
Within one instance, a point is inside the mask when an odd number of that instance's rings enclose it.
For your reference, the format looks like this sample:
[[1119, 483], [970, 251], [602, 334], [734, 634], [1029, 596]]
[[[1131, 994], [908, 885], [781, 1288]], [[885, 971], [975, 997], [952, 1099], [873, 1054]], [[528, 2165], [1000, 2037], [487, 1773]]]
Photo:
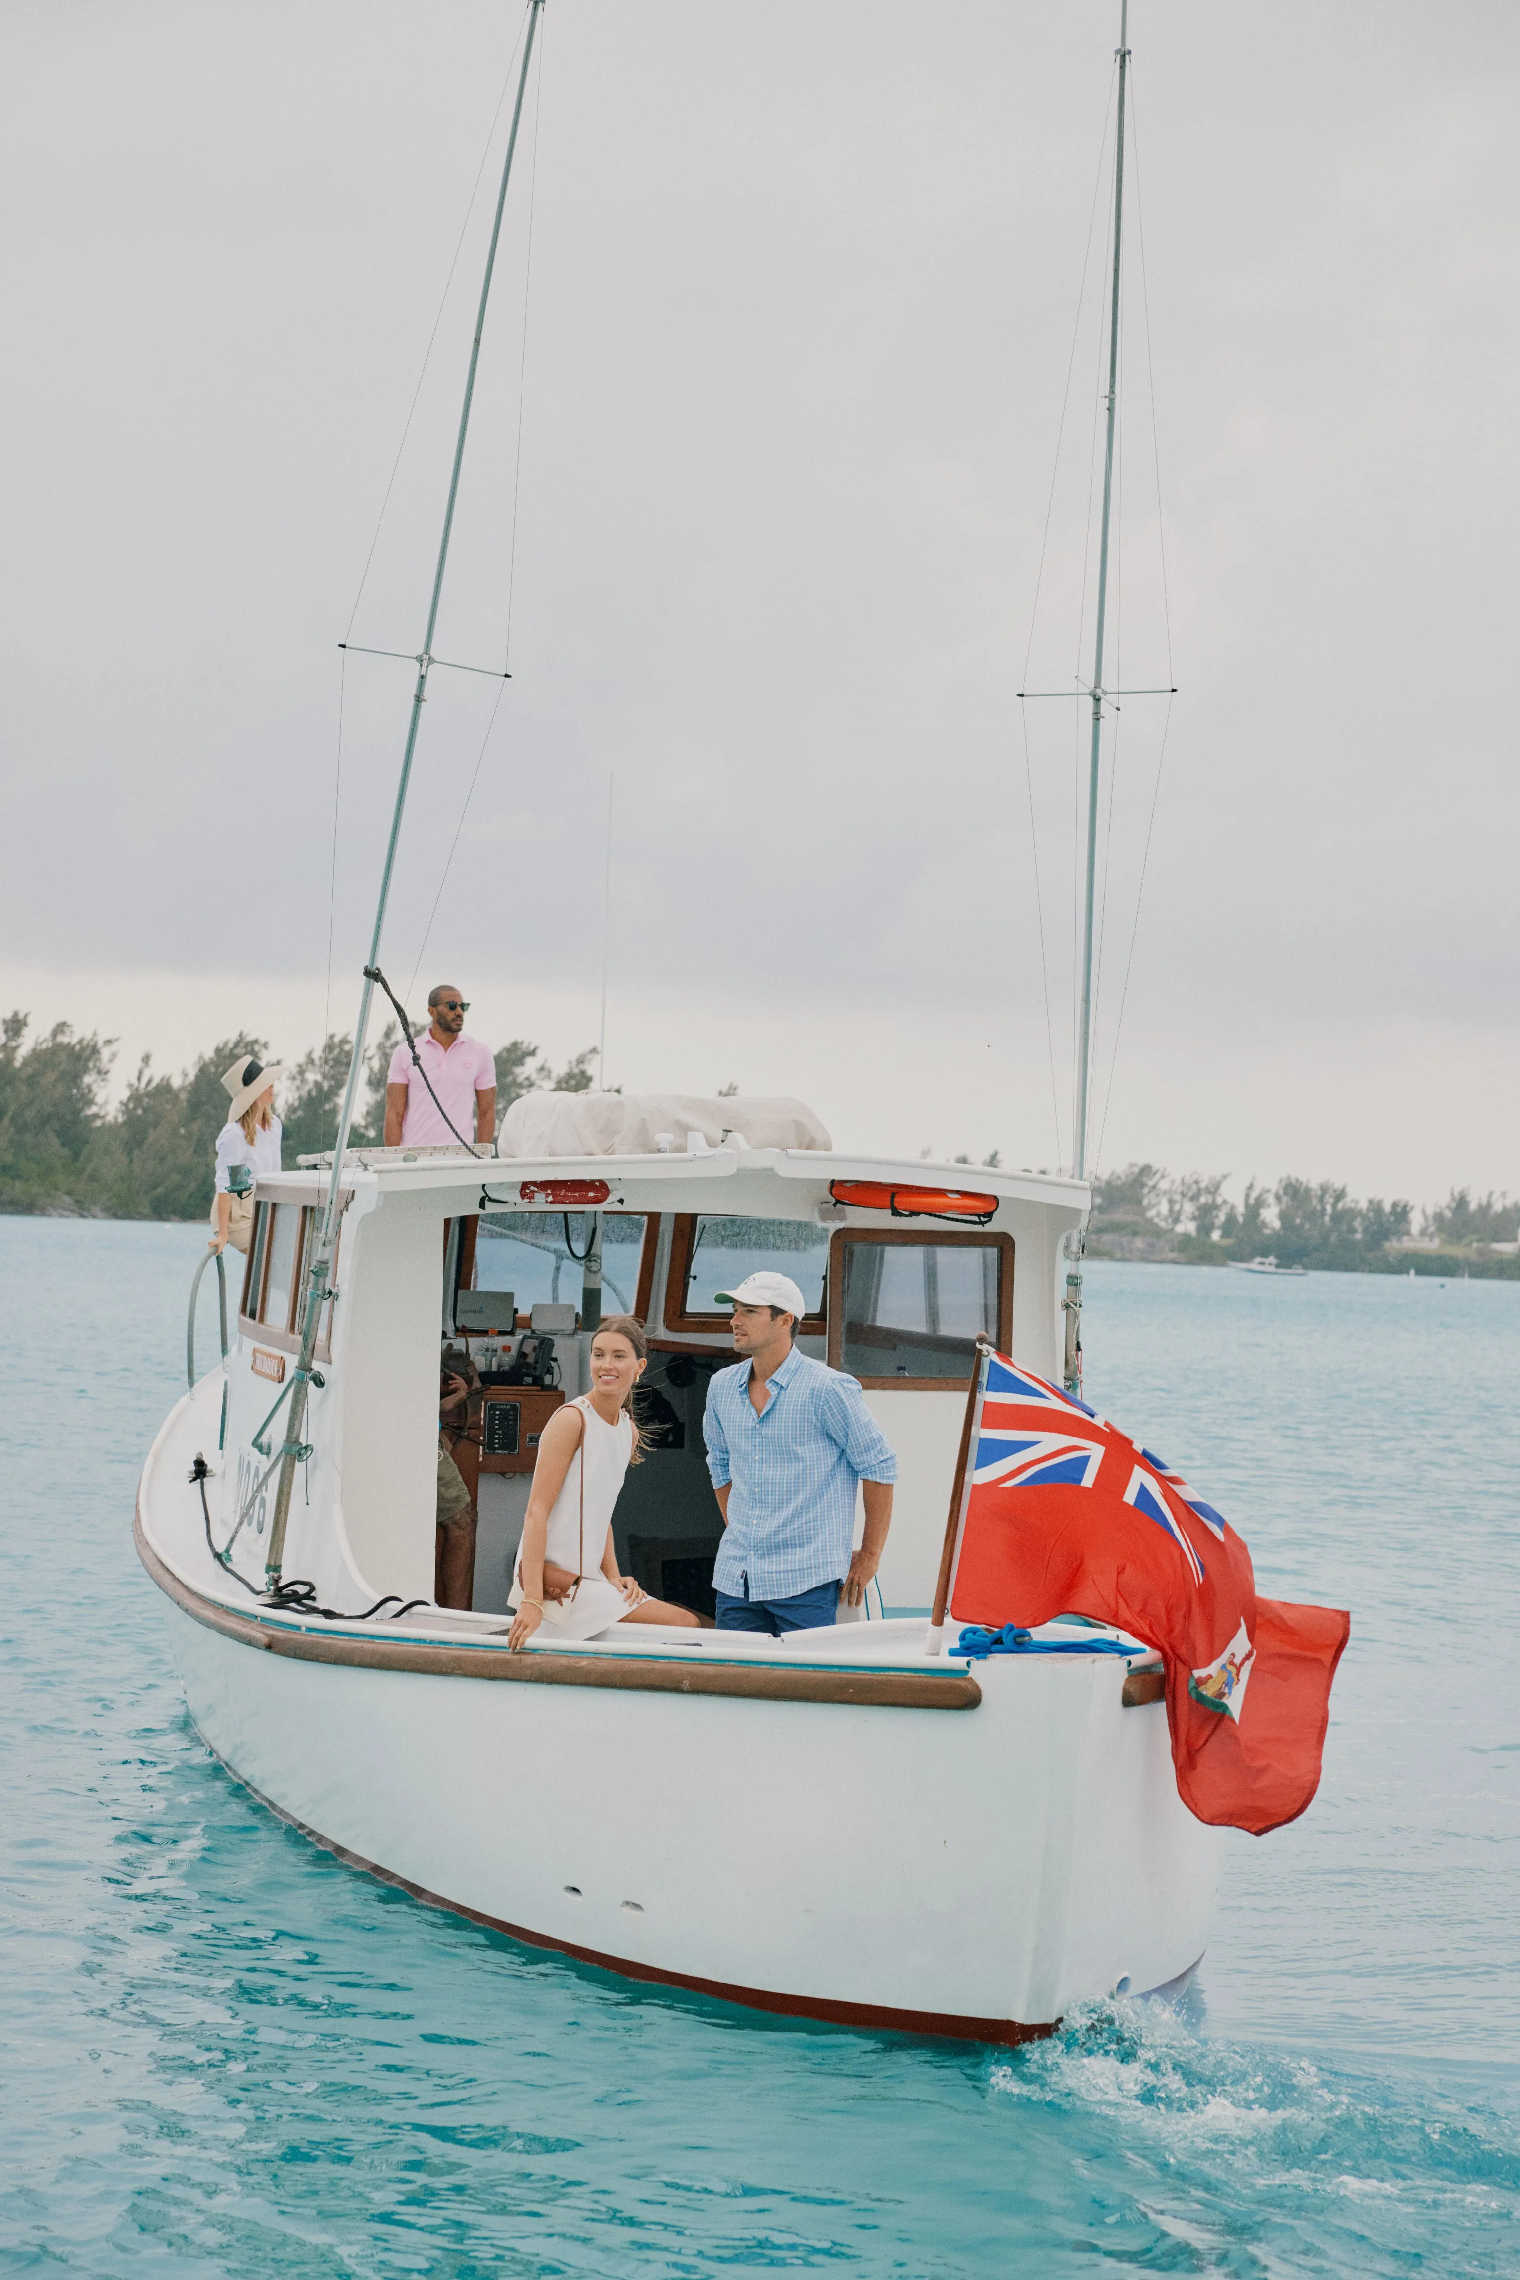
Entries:
[[[0, 1211], [84, 1213], [112, 1220], [201, 1220], [212, 1208], [212, 1154], [228, 1119], [221, 1072], [235, 1060], [271, 1060], [262, 1037], [223, 1037], [180, 1076], [144, 1053], [121, 1101], [109, 1106], [112, 1037], [80, 1037], [66, 1021], [27, 1040], [30, 1017], [0, 1026]], [[392, 1024], [365, 1056], [356, 1142], [385, 1133], [385, 1072], [401, 1042]], [[285, 1163], [333, 1147], [349, 1078], [351, 1037], [333, 1033], [285, 1069], [276, 1110]], [[554, 1069], [526, 1037], [497, 1051], [497, 1117], [522, 1092], [590, 1092], [595, 1049]]]

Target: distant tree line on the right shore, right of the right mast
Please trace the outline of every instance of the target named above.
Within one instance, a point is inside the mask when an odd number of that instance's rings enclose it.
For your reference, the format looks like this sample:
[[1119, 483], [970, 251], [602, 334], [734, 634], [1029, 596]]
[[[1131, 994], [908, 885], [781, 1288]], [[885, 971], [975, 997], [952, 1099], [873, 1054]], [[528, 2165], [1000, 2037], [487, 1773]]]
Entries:
[[[1240, 1202], [1226, 1195], [1226, 1172], [1174, 1176], [1155, 1163], [1130, 1163], [1094, 1181], [1087, 1247], [1110, 1259], [1183, 1259], [1199, 1265], [1274, 1256], [1283, 1268], [1342, 1272], [1520, 1275], [1520, 1259], [1493, 1245], [1520, 1238], [1520, 1204], [1509, 1195], [1452, 1188], [1445, 1204], [1420, 1213], [1404, 1197], [1358, 1202], [1333, 1179], [1249, 1179]], [[1422, 1247], [1411, 1247], [1408, 1238]]]

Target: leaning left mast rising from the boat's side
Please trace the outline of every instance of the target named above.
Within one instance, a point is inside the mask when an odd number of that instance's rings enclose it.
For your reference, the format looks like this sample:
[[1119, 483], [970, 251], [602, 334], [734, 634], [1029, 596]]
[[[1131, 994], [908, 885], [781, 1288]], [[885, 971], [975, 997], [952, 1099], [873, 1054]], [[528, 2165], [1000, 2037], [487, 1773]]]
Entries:
[[[289, 1420], [285, 1427], [285, 1443], [280, 1448], [280, 1484], [273, 1500], [273, 1525], [269, 1530], [269, 1553], [264, 1560], [264, 1585], [273, 1591], [280, 1582], [280, 1564], [285, 1560], [285, 1530], [289, 1523], [289, 1491], [296, 1480], [296, 1464], [310, 1457], [310, 1448], [301, 1441], [305, 1425], [305, 1395], [312, 1384], [312, 1352], [317, 1347], [317, 1325], [321, 1322], [324, 1304], [335, 1295], [330, 1290], [333, 1254], [337, 1249], [337, 1195], [342, 1186], [344, 1151], [349, 1147], [349, 1133], [353, 1129], [353, 1104], [358, 1097], [358, 1081], [365, 1069], [365, 1040], [369, 1033], [369, 1003], [374, 999], [374, 971], [381, 962], [381, 937], [385, 933], [385, 905], [390, 903], [390, 880], [397, 866], [397, 844], [401, 839], [401, 819], [406, 814], [406, 793], [412, 777], [412, 755], [417, 752], [417, 730], [422, 727], [422, 707], [428, 695], [428, 673], [433, 670], [433, 634], [438, 632], [438, 606], [444, 591], [444, 570], [449, 565], [449, 540], [453, 536], [453, 506], [458, 502], [458, 481], [465, 465], [465, 438], [469, 433], [469, 408], [474, 404], [474, 376], [481, 363], [481, 335], [485, 333], [485, 308], [490, 303], [490, 280], [497, 267], [497, 244], [501, 239], [501, 214], [506, 210], [506, 185], [513, 178], [513, 157], [517, 155], [517, 128], [522, 125], [522, 103], [529, 91], [529, 64], [533, 62], [533, 36], [538, 32], [538, 18], [542, 16], [545, 0], [529, 0], [529, 30], [522, 46], [522, 71], [517, 73], [517, 98], [513, 103], [513, 125], [506, 137], [506, 160], [501, 164], [501, 189], [497, 192], [497, 212], [490, 226], [490, 246], [485, 253], [485, 276], [481, 278], [481, 308], [474, 319], [474, 340], [469, 344], [469, 372], [465, 374], [465, 401], [458, 417], [458, 438], [453, 442], [453, 467], [449, 470], [449, 502], [444, 506], [444, 527], [438, 540], [438, 568], [433, 572], [433, 595], [428, 600], [428, 622], [422, 636], [422, 650], [417, 652], [417, 684], [412, 689], [412, 711], [406, 725], [406, 750], [401, 752], [401, 777], [397, 782], [397, 807], [390, 819], [390, 841], [385, 846], [385, 864], [381, 869], [381, 891], [374, 905], [374, 930], [369, 935], [369, 964], [365, 967], [365, 987], [360, 992], [358, 1021], [353, 1024], [353, 1056], [349, 1060], [349, 1083], [344, 1088], [344, 1106], [337, 1119], [337, 1142], [333, 1147], [333, 1176], [328, 1181], [328, 1199], [321, 1211], [321, 1227], [317, 1233], [317, 1247], [310, 1259], [308, 1270], [308, 1293], [305, 1293], [305, 1325], [301, 1329], [301, 1359], [292, 1377], [289, 1393]], [[317, 1379], [321, 1382], [321, 1379]]]

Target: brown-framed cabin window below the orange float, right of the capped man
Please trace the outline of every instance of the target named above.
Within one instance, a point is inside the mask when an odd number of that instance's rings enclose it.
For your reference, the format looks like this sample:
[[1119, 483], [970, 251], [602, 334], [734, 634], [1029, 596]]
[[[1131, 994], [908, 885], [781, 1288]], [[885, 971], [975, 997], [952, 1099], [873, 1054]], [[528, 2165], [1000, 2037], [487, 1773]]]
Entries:
[[969, 1386], [975, 1341], [1012, 1341], [1012, 1236], [841, 1229], [830, 1361], [866, 1386]]

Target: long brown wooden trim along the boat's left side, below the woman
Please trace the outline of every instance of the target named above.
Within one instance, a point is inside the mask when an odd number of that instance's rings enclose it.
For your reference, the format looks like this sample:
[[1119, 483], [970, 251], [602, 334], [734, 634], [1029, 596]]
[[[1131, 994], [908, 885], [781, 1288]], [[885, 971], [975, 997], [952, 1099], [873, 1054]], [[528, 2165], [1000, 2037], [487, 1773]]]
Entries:
[[504, 1678], [520, 1685], [599, 1687], [624, 1694], [725, 1694], [741, 1701], [848, 1703], [864, 1710], [975, 1710], [982, 1689], [966, 1674], [930, 1671], [788, 1671], [741, 1662], [634, 1660], [608, 1655], [556, 1655], [547, 1651], [508, 1655], [499, 1646], [465, 1646], [431, 1639], [356, 1639], [351, 1635], [285, 1630], [219, 1605], [187, 1585], [148, 1544], [141, 1507], [132, 1514], [137, 1557], [160, 1591], [196, 1623], [219, 1630], [239, 1646], [287, 1655], [294, 1662], [335, 1662], [346, 1669], [415, 1671], [431, 1678]]

